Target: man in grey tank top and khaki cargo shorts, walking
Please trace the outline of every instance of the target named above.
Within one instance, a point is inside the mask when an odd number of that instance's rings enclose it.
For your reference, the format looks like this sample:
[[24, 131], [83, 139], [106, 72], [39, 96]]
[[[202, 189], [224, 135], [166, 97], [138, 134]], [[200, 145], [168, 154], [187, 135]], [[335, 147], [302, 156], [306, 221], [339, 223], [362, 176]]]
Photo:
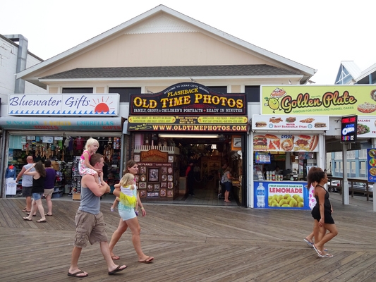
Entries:
[[[93, 154], [90, 158], [90, 164], [101, 171], [104, 164], [102, 154]], [[116, 274], [127, 267], [126, 265], [114, 264], [109, 251], [106, 224], [103, 220], [103, 214], [100, 212], [100, 197], [109, 191], [110, 188], [107, 183], [98, 185], [95, 177], [91, 174], [85, 174], [81, 178], [81, 201], [75, 214], [75, 237], [68, 276], [80, 278], [89, 275], [78, 268], [78, 259], [83, 247], [87, 246], [87, 240], [91, 245], [99, 242], [100, 250], [107, 262], [109, 275]]]

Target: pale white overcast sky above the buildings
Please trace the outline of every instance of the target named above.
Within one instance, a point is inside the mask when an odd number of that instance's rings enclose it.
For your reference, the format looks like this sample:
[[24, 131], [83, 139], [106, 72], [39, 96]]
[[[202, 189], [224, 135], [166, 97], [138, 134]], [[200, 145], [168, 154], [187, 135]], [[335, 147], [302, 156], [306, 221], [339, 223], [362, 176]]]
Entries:
[[46, 60], [160, 4], [314, 68], [316, 84], [334, 84], [341, 61], [362, 71], [376, 63], [372, 0], [2, 1], [0, 34], [23, 35]]

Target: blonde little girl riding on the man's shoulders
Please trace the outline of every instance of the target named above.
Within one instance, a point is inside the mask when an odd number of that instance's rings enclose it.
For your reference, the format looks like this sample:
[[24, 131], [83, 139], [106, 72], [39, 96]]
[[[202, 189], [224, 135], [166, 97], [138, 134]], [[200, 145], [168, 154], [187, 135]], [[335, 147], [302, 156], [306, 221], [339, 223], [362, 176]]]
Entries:
[[80, 162], [78, 164], [78, 169], [80, 171], [81, 176], [85, 176], [85, 174], [90, 174], [94, 176], [95, 182], [98, 183], [98, 185], [102, 186], [102, 182], [104, 181], [101, 177], [101, 180], [99, 182], [99, 173], [102, 171], [95, 169], [90, 164], [90, 158], [92, 157], [95, 152], [97, 152], [97, 149], [99, 148], [99, 142], [95, 140], [94, 138], [89, 138], [85, 145], [85, 151], [81, 155]]

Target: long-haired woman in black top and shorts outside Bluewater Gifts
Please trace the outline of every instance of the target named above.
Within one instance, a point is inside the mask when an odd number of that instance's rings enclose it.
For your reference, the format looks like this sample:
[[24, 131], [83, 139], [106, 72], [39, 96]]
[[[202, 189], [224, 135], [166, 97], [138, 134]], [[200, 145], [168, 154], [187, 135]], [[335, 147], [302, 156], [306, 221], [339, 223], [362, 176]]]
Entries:
[[[34, 171], [31, 171], [32, 168], [35, 168]], [[38, 161], [36, 164], [32, 164], [24, 173], [25, 176], [32, 177], [32, 204], [28, 216], [23, 217], [25, 221], [32, 221], [32, 216], [37, 212], [37, 209], [40, 212], [40, 220], [37, 222], [47, 222], [46, 216], [44, 214], [44, 208], [42, 204], [42, 195], [44, 193], [44, 180], [46, 179], [46, 170], [42, 164], [42, 161]]]

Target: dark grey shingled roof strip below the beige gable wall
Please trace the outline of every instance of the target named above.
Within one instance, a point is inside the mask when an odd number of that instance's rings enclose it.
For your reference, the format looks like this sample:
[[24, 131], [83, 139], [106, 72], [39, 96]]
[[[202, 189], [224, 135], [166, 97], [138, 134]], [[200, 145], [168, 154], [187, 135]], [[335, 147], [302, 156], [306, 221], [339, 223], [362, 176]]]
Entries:
[[191, 76], [253, 76], [253, 75], [299, 75], [284, 68], [269, 65], [230, 65], [230, 66], [155, 66], [124, 68], [75, 68], [40, 80], [93, 79], [93, 78], [176, 78]]

